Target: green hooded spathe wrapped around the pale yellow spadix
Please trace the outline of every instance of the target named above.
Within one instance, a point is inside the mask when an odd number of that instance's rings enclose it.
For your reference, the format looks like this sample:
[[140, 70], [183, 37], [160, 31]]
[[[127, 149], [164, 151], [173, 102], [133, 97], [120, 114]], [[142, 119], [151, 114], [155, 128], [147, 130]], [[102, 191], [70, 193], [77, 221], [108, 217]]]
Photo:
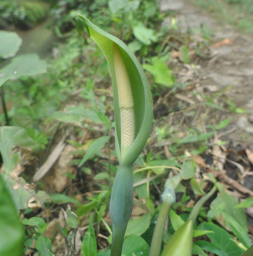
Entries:
[[[149, 84], [142, 70], [142, 67], [133, 53], [120, 39], [104, 32], [84, 16], [79, 17], [85, 23], [90, 37], [96, 42], [104, 53], [112, 77], [113, 85], [113, 104], [115, 117], [115, 144], [118, 160], [122, 165], [131, 165], [143, 150], [151, 131], [153, 119], [152, 95]], [[113, 43], [117, 44], [123, 55], [124, 63], [130, 80], [133, 110], [135, 114], [135, 140], [130, 149], [126, 152], [123, 159], [121, 158], [121, 120], [120, 106], [118, 99], [118, 87], [115, 75], [114, 59], [113, 59]], [[117, 67], [116, 67], [117, 68]]]

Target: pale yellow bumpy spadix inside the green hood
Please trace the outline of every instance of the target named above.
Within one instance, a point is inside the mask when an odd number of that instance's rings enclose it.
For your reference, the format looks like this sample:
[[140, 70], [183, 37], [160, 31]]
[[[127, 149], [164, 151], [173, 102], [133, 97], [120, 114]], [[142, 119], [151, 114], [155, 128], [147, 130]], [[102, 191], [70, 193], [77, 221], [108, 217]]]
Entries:
[[116, 43], [113, 43], [113, 61], [120, 106], [121, 157], [123, 158], [135, 139], [135, 115], [128, 72], [120, 47]]

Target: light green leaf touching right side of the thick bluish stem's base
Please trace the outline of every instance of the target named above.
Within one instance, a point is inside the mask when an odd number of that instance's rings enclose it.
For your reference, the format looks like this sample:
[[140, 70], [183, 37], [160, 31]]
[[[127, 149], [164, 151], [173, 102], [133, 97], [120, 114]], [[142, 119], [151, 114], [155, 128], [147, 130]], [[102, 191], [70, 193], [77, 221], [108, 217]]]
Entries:
[[137, 219], [131, 219], [128, 221], [125, 236], [130, 235], [142, 235], [150, 225], [151, 213], [142, 215]]

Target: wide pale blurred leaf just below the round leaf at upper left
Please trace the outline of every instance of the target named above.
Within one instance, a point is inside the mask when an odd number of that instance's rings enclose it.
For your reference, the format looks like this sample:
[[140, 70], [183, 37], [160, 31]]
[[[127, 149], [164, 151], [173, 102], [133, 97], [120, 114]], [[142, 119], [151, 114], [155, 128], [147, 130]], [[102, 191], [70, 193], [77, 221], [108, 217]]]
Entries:
[[39, 55], [36, 53], [28, 53], [13, 57], [11, 62], [3, 66], [2, 69], [8, 70], [6, 76], [16, 72], [16, 75], [10, 78], [11, 80], [14, 80], [23, 76], [46, 73], [47, 66], [46, 61], [39, 59]]

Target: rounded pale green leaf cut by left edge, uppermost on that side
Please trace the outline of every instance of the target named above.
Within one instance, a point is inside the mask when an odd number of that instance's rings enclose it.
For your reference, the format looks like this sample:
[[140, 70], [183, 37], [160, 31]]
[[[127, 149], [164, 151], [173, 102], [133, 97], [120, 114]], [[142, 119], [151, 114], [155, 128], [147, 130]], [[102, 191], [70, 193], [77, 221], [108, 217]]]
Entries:
[[22, 38], [16, 32], [0, 30], [0, 57], [8, 59], [18, 52]]

